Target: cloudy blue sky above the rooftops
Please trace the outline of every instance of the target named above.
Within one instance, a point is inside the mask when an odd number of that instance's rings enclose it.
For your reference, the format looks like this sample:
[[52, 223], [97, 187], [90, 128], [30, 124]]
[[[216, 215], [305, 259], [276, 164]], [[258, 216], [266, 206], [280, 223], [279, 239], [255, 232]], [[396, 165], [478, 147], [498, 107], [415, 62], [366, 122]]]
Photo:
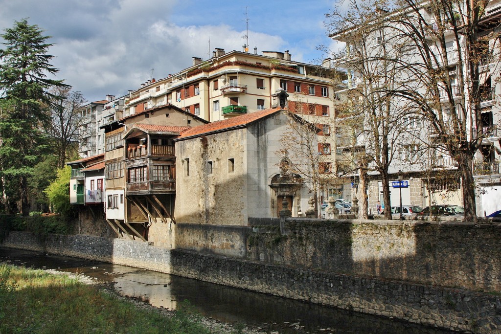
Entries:
[[0, 0], [0, 28], [23, 18], [38, 25], [54, 43], [53, 79], [99, 101], [188, 68], [192, 57], [208, 59], [214, 48], [241, 51], [246, 12], [249, 52], [289, 50], [294, 61], [319, 64], [328, 56], [316, 48], [333, 44], [324, 20], [335, 6], [334, 0]]

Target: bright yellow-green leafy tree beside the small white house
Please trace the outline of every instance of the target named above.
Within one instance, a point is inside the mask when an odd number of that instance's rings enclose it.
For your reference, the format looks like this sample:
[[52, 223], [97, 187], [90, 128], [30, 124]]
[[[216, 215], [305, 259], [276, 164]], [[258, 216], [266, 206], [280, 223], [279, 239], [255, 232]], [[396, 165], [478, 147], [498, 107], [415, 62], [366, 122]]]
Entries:
[[70, 178], [71, 167], [60, 168], [57, 178], [44, 190], [54, 211], [67, 218], [73, 214], [73, 207], [70, 204]]

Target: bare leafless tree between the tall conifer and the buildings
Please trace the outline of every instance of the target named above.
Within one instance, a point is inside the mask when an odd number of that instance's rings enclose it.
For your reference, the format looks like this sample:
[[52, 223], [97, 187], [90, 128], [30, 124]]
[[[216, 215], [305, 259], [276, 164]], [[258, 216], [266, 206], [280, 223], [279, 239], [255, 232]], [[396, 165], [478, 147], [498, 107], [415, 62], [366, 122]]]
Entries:
[[87, 103], [82, 93], [71, 91], [70, 88], [56, 88], [51, 105], [51, 127], [48, 134], [52, 139], [59, 167], [69, 157], [70, 149], [80, 141], [79, 127], [83, 122], [80, 109]]

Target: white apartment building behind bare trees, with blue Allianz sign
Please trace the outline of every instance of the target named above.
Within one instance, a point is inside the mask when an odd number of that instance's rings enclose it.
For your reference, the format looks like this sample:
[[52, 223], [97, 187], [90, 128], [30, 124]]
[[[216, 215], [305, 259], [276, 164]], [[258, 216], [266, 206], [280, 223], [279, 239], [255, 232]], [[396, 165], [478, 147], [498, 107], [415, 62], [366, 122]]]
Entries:
[[[496, 103], [500, 93], [497, 24], [501, 8], [496, 2], [487, 5], [472, 47], [461, 35], [461, 20], [469, 15], [467, 7], [448, 12], [447, 8], [437, 10], [435, 5], [425, 2], [391, 13], [374, 10], [367, 16], [372, 21], [364, 24], [363, 29], [345, 26], [331, 34], [331, 38], [346, 45], [344, 52], [335, 55], [332, 65], [345, 68], [348, 74], [345, 89], [338, 92], [343, 97], [345, 112], [336, 117], [336, 149], [346, 158], [338, 171], [346, 176], [345, 185], [356, 184], [360, 176], [354, 158], [357, 152], [376, 156], [375, 159], [385, 155], [391, 161], [387, 180], [375, 170], [374, 161], [367, 168], [370, 208], [377, 200], [382, 201], [385, 182], [389, 183], [391, 205], [398, 205], [400, 197], [403, 204], [463, 205], [462, 188], [470, 186], [462, 180], [463, 168], [468, 166], [476, 187], [476, 214], [483, 216], [501, 209], [498, 196], [492, 196], [501, 190], [501, 113]], [[408, 27], [422, 27], [422, 36], [413, 36], [406, 30]], [[422, 50], [426, 52], [420, 53]], [[398, 60], [387, 62], [398, 63], [398, 72], [396, 67], [382, 68], [383, 60], [390, 58]], [[383, 126], [374, 122], [375, 118], [370, 122], [368, 116], [376, 112], [371, 109], [368, 91], [383, 91], [382, 84], [390, 82], [392, 71], [398, 73], [391, 78], [398, 86], [391, 90], [386, 86], [387, 96], [397, 91], [406, 93], [394, 94], [391, 112], [382, 117], [391, 128], [386, 137], [386, 154], [375, 149], [375, 142], [383, 138], [382, 132], [375, 137], [375, 129], [382, 130]], [[471, 88], [473, 84], [476, 89]], [[458, 149], [459, 144], [454, 145], [459, 142], [477, 150], [468, 157]], [[351, 191], [345, 193], [345, 197], [350, 195]]]

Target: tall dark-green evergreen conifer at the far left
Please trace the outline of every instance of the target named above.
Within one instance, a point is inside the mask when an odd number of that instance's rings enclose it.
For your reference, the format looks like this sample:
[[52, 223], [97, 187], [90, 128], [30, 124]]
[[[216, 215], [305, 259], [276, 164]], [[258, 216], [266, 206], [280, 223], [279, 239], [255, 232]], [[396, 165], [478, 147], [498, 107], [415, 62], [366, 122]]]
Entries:
[[23, 215], [29, 213], [28, 178], [47, 149], [43, 129], [50, 123], [48, 107], [53, 87], [68, 87], [48, 79], [59, 70], [49, 62], [52, 44], [37, 25], [27, 19], [15, 22], [1, 35], [0, 50], [0, 175], [7, 213], [10, 203], [21, 200]]

